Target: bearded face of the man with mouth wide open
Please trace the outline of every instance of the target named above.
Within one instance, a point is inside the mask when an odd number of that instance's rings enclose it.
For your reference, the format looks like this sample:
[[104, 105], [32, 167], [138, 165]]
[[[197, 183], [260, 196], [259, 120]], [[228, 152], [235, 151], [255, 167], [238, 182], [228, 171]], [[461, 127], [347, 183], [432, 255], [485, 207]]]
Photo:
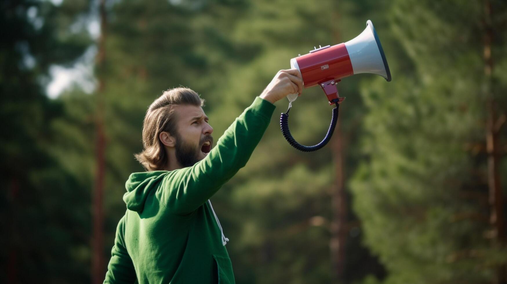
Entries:
[[193, 166], [204, 159], [213, 145], [208, 117], [196, 105], [178, 105], [174, 109], [176, 122], [176, 159], [183, 167]]

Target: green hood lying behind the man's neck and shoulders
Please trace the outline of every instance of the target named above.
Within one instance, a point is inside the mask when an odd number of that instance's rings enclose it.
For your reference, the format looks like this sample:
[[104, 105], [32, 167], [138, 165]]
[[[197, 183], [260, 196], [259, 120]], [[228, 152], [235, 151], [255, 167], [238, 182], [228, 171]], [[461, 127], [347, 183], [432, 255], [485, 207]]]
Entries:
[[127, 209], [141, 213], [148, 195], [157, 190], [159, 183], [167, 173], [168, 171], [165, 170], [157, 170], [130, 174], [125, 183], [127, 192], [123, 195]]

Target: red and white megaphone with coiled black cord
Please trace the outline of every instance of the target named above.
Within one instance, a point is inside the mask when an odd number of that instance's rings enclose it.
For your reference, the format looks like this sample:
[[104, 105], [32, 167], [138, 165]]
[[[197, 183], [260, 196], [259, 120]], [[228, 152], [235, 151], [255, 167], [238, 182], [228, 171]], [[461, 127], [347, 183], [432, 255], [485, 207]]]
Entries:
[[280, 116], [280, 128], [288, 143], [303, 152], [319, 150], [331, 139], [338, 120], [338, 108], [345, 99], [340, 97], [337, 89], [337, 84], [342, 78], [359, 73], [372, 73], [382, 76], [387, 82], [391, 81], [384, 50], [370, 20], [366, 22], [366, 29], [354, 39], [334, 46], [314, 47], [314, 50], [310, 50], [308, 54], [300, 54], [292, 58], [291, 67], [298, 69], [301, 73], [305, 89], [318, 85], [327, 96], [329, 104], [336, 105], [333, 109], [331, 125], [324, 139], [314, 146], [304, 146], [294, 139], [288, 128], [288, 112], [291, 110], [292, 102], [298, 98], [298, 94], [287, 96], [289, 108]]

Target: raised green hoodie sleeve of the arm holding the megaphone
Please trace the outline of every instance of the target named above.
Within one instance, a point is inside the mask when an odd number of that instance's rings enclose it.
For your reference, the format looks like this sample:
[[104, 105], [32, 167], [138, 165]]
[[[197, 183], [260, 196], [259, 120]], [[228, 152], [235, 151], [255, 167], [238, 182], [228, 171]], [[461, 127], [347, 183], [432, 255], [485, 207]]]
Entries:
[[206, 158], [191, 167], [169, 172], [161, 186], [164, 205], [175, 214], [188, 214], [206, 202], [245, 166], [274, 110], [274, 104], [257, 97]]

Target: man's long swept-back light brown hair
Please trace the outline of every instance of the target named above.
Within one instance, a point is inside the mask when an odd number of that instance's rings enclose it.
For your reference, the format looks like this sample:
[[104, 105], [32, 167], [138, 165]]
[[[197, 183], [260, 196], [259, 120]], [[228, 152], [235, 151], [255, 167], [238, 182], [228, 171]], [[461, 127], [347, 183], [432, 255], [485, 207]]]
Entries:
[[142, 124], [142, 152], [135, 158], [147, 170], [162, 170], [167, 165], [167, 153], [159, 139], [162, 131], [176, 134], [176, 118], [173, 105], [191, 104], [203, 107], [204, 99], [185, 87], [169, 89], [162, 93], [148, 108]]

